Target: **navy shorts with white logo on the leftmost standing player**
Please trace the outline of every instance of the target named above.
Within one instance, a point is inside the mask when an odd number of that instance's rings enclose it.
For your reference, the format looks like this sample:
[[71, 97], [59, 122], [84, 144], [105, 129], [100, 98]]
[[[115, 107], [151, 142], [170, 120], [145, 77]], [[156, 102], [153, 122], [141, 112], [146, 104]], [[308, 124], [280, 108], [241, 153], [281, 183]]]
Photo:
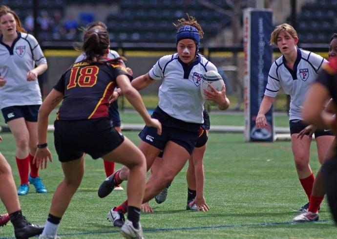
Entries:
[[6, 123], [18, 118], [24, 118], [29, 122], [37, 122], [39, 109], [40, 105], [10, 106], [1, 109], [1, 111]]

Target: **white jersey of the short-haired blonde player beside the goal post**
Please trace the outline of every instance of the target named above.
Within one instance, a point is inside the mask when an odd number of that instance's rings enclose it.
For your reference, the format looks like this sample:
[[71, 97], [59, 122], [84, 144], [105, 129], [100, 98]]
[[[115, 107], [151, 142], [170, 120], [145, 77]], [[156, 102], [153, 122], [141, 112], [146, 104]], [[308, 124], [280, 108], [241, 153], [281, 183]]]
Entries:
[[281, 56], [270, 68], [264, 94], [275, 97], [282, 86], [283, 91], [291, 97], [289, 119], [302, 120], [302, 103], [323, 62], [327, 62], [323, 57], [297, 48], [297, 59], [291, 70], [285, 65], [284, 56]]

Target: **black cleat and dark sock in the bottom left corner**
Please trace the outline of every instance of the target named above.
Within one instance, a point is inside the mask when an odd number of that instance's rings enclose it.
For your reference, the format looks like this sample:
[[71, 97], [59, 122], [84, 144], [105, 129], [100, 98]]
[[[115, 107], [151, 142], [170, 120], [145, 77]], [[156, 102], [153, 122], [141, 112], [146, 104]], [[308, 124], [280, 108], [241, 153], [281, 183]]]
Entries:
[[40, 235], [44, 229], [43, 226], [38, 226], [28, 222], [21, 213], [11, 218], [11, 222], [14, 226], [16, 239], [28, 239], [30, 237]]

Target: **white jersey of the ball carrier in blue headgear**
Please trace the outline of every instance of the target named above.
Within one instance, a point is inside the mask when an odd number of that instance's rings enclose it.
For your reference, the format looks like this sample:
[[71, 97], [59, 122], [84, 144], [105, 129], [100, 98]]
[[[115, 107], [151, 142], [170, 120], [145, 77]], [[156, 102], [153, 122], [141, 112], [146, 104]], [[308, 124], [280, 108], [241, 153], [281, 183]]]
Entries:
[[204, 123], [204, 99], [201, 96], [201, 79], [215, 65], [204, 56], [186, 65], [178, 53], [160, 58], [148, 72], [154, 80], [163, 79], [159, 87], [159, 107], [171, 117], [190, 123]]

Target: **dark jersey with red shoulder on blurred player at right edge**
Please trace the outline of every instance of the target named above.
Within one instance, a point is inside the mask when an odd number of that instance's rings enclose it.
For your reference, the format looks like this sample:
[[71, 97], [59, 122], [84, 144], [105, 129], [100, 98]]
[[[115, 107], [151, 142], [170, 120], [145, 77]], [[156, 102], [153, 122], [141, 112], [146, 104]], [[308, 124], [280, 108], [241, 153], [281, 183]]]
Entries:
[[337, 103], [337, 57], [329, 59], [329, 63], [323, 65], [316, 81], [329, 90], [331, 98]]

